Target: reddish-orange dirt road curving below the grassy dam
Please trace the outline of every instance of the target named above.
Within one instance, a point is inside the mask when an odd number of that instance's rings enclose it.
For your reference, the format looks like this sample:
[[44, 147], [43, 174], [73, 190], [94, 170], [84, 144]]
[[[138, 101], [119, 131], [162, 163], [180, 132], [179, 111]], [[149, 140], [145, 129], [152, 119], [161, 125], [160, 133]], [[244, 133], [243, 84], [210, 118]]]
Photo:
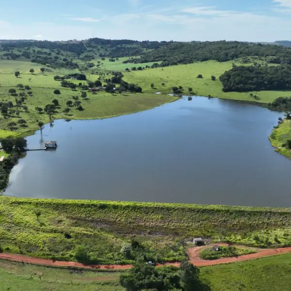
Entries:
[[[220, 244], [225, 245], [225, 244]], [[256, 249], [257, 253], [250, 254], [250, 255], [243, 255], [240, 257], [231, 257], [231, 258], [221, 258], [221, 259], [214, 259], [214, 260], [206, 260], [200, 259], [199, 253], [203, 248], [210, 247], [211, 245], [201, 246], [201, 247], [191, 247], [187, 250], [187, 254], [189, 256], [189, 261], [197, 267], [202, 266], [212, 266], [218, 264], [226, 264], [232, 262], [239, 262], [251, 259], [258, 259], [262, 257], [269, 257], [279, 254], [285, 254], [291, 252], [291, 247], [285, 248], [276, 248], [276, 249]], [[243, 247], [243, 246], [238, 246]], [[44, 266], [52, 266], [52, 267], [79, 267], [79, 268], [86, 268], [86, 269], [97, 269], [97, 270], [127, 270], [132, 268], [132, 265], [83, 265], [82, 263], [78, 262], [67, 262], [67, 261], [53, 261], [50, 259], [39, 259], [33, 258], [24, 255], [18, 254], [8, 254], [8, 253], [1, 253], [0, 259], [7, 259], [16, 262], [23, 262], [35, 265], [44, 265]], [[177, 263], [166, 263], [165, 265], [171, 265], [175, 267], [179, 267], [180, 264]], [[161, 266], [160, 264], [157, 266]]]

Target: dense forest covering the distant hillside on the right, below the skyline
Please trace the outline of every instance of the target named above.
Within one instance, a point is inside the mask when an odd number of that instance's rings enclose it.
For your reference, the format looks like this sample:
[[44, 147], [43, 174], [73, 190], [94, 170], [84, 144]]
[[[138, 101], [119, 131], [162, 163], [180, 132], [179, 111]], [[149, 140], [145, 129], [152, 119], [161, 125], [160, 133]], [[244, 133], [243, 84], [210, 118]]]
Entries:
[[278, 45], [262, 45], [243, 42], [190, 42], [164, 44], [156, 50], [144, 53], [140, 58], [133, 58], [125, 63], [147, 63], [163, 61], [169, 65], [190, 64], [216, 60], [231, 61], [243, 57], [270, 57], [275, 64], [291, 64], [291, 49]]

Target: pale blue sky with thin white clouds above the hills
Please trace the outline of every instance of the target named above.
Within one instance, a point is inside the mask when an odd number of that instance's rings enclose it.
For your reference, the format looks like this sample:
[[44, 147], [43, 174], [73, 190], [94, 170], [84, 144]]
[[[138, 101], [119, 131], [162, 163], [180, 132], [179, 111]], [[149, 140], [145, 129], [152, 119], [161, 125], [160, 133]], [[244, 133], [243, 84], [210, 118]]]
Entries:
[[0, 39], [291, 40], [291, 0], [1, 0]]

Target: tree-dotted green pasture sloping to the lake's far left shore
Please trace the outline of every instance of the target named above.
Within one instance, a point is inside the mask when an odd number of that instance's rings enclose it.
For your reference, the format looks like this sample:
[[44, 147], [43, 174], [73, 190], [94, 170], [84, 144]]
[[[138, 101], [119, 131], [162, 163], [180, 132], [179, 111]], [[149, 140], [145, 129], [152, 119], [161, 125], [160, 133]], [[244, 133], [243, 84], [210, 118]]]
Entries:
[[[72, 90], [69, 87], [61, 86], [60, 81], [55, 81], [54, 76], [72, 74], [78, 72], [74, 69], [64, 68], [47, 68], [44, 73], [40, 71], [40, 65], [31, 62], [0, 60], [0, 102], [12, 102], [14, 107], [9, 107], [8, 112], [1, 114], [0, 118], [0, 137], [6, 137], [11, 132], [25, 136], [30, 132], [38, 129], [38, 122], [44, 124], [49, 123], [54, 119], [98, 119], [115, 117], [119, 115], [136, 113], [152, 109], [164, 103], [172, 102], [178, 98], [175, 96], [155, 95], [148, 93], [131, 93], [123, 92], [122, 94], [110, 94], [105, 91], [100, 91], [93, 94], [87, 88], [84, 90], [77, 87]], [[30, 69], [34, 69], [34, 73], [30, 73]], [[19, 77], [15, 76], [15, 72], [20, 73]], [[102, 71], [102, 73], [101, 73]], [[102, 74], [102, 78], [109, 78], [109, 71], [94, 73], [86, 70], [87, 81], [97, 81]], [[109, 74], [109, 75], [106, 75]], [[105, 77], [106, 76], [106, 77]], [[80, 81], [68, 79], [71, 83], [78, 85]], [[87, 85], [87, 81], [81, 81], [83, 85]], [[106, 84], [102, 80], [103, 84]], [[21, 86], [27, 86], [30, 89], [23, 89]], [[15, 89], [16, 93], [10, 93], [9, 90]], [[59, 90], [60, 94], [54, 94], [54, 90]], [[30, 92], [30, 95], [28, 93]], [[82, 98], [81, 93], [85, 92], [86, 97]], [[19, 100], [24, 97], [20, 106]], [[74, 106], [78, 98], [83, 110], [78, 110]], [[54, 99], [58, 100], [59, 105], [51, 116], [45, 113], [45, 106], [52, 104]], [[17, 101], [16, 101], [17, 100]], [[67, 101], [71, 100], [72, 104], [68, 105]], [[17, 105], [16, 102], [18, 102]], [[17, 106], [16, 106], [17, 105]], [[42, 111], [38, 112], [37, 108]], [[69, 112], [64, 110], [68, 108]], [[19, 120], [25, 120], [25, 123], [20, 124]], [[11, 129], [13, 131], [11, 131]]]

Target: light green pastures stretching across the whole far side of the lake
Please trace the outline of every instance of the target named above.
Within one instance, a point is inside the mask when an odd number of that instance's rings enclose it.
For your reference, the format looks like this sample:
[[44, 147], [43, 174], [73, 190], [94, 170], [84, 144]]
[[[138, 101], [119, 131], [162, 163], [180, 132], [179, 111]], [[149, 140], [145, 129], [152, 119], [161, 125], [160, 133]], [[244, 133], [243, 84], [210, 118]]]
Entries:
[[[118, 61], [109, 62], [106, 58], [104, 61], [94, 60], [101, 62], [100, 68], [94, 67], [85, 71], [88, 80], [96, 81], [100, 76], [99, 74], [119, 70], [124, 71], [126, 67], [132, 66], [146, 66], [148, 64], [123, 64], [123, 60], [126, 58], [120, 58]], [[29, 131], [37, 129], [38, 120], [48, 123], [49, 116], [47, 114], [39, 114], [36, 112], [35, 107], [39, 106], [44, 108], [45, 105], [52, 102], [54, 98], [57, 98], [60, 103], [60, 108], [53, 118], [69, 118], [69, 119], [94, 119], [94, 118], [106, 118], [113, 117], [122, 114], [134, 113], [151, 109], [155, 106], [162, 105], [166, 102], [172, 102], [177, 97], [168, 96], [168, 93], [172, 92], [173, 86], [182, 86], [184, 88], [184, 94], [188, 94], [188, 87], [192, 87], [194, 93], [202, 96], [212, 96], [220, 98], [229, 98], [244, 101], [255, 101], [267, 103], [273, 101], [276, 97], [290, 96], [289, 91], [264, 91], [253, 92], [254, 95], [259, 96], [259, 100], [251, 97], [249, 93], [224, 93], [222, 91], [222, 84], [218, 80], [219, 76], [226, 70], [229, 70], [233, 62], [218, 63], [215, 61], [208, 61], [203, 63], [195, 63], [189, 65], [177, 65], [156, 69], [145, 69], [142, 71], [130, 71], [124, 72], [124, 80], [128, 82], [137, 83], [143, 88], [143, 94], [109, 94], [100, 92], [96, 95], [87, 93], [87, 98], [82, 100], [81, 90], [72, 91], [69, 88], [61, 87], [59, 81], [54, 81], [53, 76], [65, 75], [67, 73], [78, 72], [77, 70], [67, 69], [49, 69], [48, 72], [42, 74], [40, 72], [41, 65], [37, 65], [26, 61], [12, 61], [12, 60], [0, 60], [0, 101], [15, 102], [15, 97], [9, 95], [8, 90], [16, 88], [17, 84], [29, 85], [32, 88], [32, 97], [28, 97], [24, 105], [28, 107], [27, 112], [20, 109], [19, 115], [8, 116], [6, 118], [0, 118], [0, 129], [9, 130], [8, 123], [14, 121], [17, 123], [19, 119], [25, 119], [27, 121], [26, 127], [17, 127], [17, 132], [25, 134]], [[237, 60], [236, 65], [241, 65], [241, 60]], [[31, 74], [29, 70], [33, 68], [35, 73]], [[14, 72], [19, 71], [20, 77], [16, 78]], [[92, 74], [92, 71], [95, 73]], [[198, 74], [203, 75], [203, 79], [197, 79]], [[211, 81], [211, 75], [216, 76], [217, 81]], [[79, 83], [79, 81], [74, 81]], [[154, 83], [155, 88], [152, 89], [150, 84]], [[162, 86], [162, 83], [165, 85]], [[55, 95], [53, 91], [59, 89], [61, 95]], [[16, 90], [17, 94], [23, 92], [23, 90]], [[163, 94], [157, 95], [156, 92], [162, 92]], [[84, 108], [83, 111], [77, 110], [75, 107], [70, 107], [68, 115], [63, 113], [63, 110], [67, 107], [66, 101], [72, 99], [73, 96], [79, 96], [81, 105]], [[0, 132], [0, 137], [7, 136], [4, 131]]]

